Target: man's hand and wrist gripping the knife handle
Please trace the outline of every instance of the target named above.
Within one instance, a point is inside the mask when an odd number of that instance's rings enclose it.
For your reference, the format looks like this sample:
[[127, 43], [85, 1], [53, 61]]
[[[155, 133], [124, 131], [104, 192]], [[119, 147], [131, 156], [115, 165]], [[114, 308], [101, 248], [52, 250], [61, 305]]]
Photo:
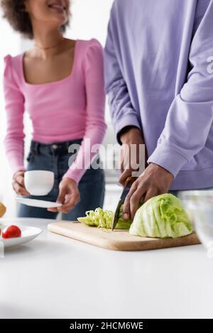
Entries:
[[[131, 176], [133, 171], [136, 171], [136, 169], [131, 168], [131, 166], [140, 162], [139, 146], [144, 144], [144, 140], [142, 131], [136, 127], [131, 126], [129, 126], [127, 131], [124, 131], [124, 133], [121, 134], [120, 140], [123, 146], [121, 147], [121, 177], [119, 182], [121, 182], [122, 185], [125, 185], [126, 179]], [[131, 145], [133, 144], [136, 145], [136, 156], [132, 156], [132, 154], [130, 154]], [[147, 163], [146, 160], [145, 163]]]

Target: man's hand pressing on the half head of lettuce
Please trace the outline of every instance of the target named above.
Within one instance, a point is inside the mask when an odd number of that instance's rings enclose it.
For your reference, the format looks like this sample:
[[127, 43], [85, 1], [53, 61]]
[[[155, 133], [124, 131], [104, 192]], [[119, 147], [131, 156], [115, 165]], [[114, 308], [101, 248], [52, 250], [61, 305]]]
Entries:
[[129, 194], [124, 202], [124, 219], [133, 220], [140, 202], [146, 202], [151, 197], [167, 193], [173, 175], [161, 168], [159, 165], [151, 163], [138, 179], [133, 182]]

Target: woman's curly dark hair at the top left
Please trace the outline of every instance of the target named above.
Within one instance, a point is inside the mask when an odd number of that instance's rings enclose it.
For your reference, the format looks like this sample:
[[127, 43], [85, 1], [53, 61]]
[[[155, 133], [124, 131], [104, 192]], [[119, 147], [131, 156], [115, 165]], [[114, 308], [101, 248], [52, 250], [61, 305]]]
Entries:
[[[31, 18], [25, 11], [25, 0], [1, 0], [1, 8], [4, 12], [4, 18], [9, 21], [15, 31], [33, 39], [33, 27]], [[69, 21], [61, 26], [62, 33], [65, 32], [68, 25]]]

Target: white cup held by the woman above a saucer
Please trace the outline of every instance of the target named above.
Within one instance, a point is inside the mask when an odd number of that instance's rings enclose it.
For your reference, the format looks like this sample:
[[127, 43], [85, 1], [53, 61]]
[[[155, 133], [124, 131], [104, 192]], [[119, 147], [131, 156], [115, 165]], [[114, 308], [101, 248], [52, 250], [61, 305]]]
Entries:
[[24, 185], [31, 195], [48, 195], [53, 189], [54, 173], [44, 170], [26, 171]]

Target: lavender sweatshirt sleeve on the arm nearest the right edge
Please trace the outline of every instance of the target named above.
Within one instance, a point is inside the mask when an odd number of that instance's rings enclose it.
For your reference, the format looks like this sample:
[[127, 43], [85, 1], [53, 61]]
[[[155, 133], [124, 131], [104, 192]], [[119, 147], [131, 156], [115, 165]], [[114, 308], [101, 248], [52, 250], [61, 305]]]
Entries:
[[213, 1], [209, 1], [190, 48], [187, 82], [170, 106], [165, 128], [148, 163], [176, 176], [204, 148], [213, 121]]

